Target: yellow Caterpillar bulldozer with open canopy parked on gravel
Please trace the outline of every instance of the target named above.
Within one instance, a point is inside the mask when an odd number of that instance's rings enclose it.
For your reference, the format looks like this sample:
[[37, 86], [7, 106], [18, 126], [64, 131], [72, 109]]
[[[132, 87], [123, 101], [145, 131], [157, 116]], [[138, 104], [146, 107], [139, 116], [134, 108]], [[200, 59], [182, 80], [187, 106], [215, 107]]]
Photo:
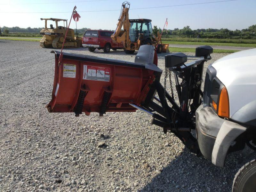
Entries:
[[[55, 48], [55, 49], [61, 49], [62, 44], [64, 42], [64, 37], [67, 32], [67, 20], [66, 19], [55, 19], [55, 18], [49, 18], [49, 19], [43, 19], [45, 20], [45, 28], [40, 31], [41, 35], [44, 35], [40, 41], [40, 46], [43, 48]], [[47, 21], [52, 20], [55, 21], [56, 27], [54, 28], [52, 25], [50, 25], [50, 28], [47, 27]], [[63, 21], [64, 27], [59, 26], [58, 22]], [[65, 21], [66, 21], [66, 27], [65, 27]], [[68, 34], [66, 38], [66, 42], [64, 43], [64, 48], [78, 48], [81, 45], [81, 40], [79, 37], [75, 37], [74, 29], [68, 29]]]

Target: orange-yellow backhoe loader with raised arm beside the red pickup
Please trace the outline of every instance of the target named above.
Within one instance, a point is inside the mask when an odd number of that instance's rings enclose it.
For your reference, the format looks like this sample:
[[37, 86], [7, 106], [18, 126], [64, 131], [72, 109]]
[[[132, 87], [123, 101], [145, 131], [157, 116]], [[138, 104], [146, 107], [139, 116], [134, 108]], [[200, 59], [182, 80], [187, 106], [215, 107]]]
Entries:
[[[139, 50], [140, 45], [153, 45], [157, 53], [169, 52], [169, 44], [162, 44], [161, 36], [157, 37], [152, 33], [150, 19], [129, 19], [130, 3], [125, 1], [122, 4], [121, 13], [112, 40], [116, 43], [124, 42], [124, 51], [132, 54]], [[161, 44], [159, 43], [161, 42]]]

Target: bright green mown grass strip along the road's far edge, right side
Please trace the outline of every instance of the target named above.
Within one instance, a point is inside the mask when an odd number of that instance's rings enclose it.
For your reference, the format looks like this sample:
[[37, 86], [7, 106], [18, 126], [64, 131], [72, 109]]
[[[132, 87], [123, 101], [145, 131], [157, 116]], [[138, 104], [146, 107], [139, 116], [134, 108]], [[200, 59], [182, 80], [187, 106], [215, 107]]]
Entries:
[[185, 44], [185, 45], [219, 45], [219, 46], [234, 46], [234, 47], [256, 47], [256, 44], [243, 43], [206, 43], [206, 42], [178, 42], [178, 41], [163, 41], [166, 44]]

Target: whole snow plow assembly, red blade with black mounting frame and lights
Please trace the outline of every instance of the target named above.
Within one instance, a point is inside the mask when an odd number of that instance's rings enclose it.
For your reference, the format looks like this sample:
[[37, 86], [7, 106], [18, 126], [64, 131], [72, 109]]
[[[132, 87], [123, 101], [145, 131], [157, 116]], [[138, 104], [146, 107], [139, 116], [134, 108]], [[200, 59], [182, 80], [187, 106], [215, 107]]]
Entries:
[[[196, 128], [196, 109], [202, 103], [201, 91], [204, 62], [211, 59], [210, 46], [196, 48], [198, 60], [187, 62], [184, 53], [165, 56], [164, 86], [162, 70], [152, 45], [142, 45], [134, 62], [105, 59], [73, 53], [55, 53], [55, 76], [49, 112], [82, 112], [89, 116], [98, 112], [135, 112], [137, 109], [153, 117], [152, 124], [164, 133], [173, 132], [189, 150], [201, 155], [191, 130]], [[174, 100], [171, 75], [179, 102]], [[166, 91], [169, 76], [171, 93]]]

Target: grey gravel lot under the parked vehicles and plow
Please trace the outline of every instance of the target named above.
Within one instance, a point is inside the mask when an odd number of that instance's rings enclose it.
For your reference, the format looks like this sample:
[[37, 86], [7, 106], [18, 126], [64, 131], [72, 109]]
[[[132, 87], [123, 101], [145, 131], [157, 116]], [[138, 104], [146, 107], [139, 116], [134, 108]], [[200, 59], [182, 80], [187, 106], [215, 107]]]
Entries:
[[[231, 190], [241, 151], [230, 154], [222, 169], [189, 153], [140, 111], [104, 117], [48, 113], [54, 78], [50, 51], [38, 42], [0, 40], [0, 191]], [[66, 51], [135, 58], [123, 51]], [[158, 55], [162, 69], [164, 55]], [[190, 61], [193, 55], [188, 53]], [[212, 54], [210, 62], [224, 55]], [[107, 147], [99, 148], [100, 142]]]

